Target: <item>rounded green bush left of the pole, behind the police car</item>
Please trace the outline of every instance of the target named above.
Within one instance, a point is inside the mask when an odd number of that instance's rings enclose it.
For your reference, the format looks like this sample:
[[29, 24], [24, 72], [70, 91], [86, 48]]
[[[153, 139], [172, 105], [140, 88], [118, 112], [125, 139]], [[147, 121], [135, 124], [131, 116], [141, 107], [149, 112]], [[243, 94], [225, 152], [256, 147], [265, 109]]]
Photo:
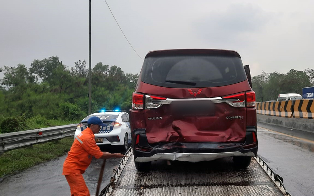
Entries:
[[62, 103], [60, 104], [60, 113], [65, 120], [77, 120], [82, 118], [83, 112], [76, 103]]

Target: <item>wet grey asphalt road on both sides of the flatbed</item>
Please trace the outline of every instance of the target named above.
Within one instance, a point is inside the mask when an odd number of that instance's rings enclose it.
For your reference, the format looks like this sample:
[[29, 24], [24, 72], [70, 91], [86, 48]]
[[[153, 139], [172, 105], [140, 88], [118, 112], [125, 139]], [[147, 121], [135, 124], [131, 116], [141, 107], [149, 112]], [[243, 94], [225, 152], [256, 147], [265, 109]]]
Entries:
[[[278, 131], [278, 130], [277, 130]], [[314, 195], [314, 142], [304, 141], [282, 133], [258, 129], [258, 154], [284, 178], [287, 191], [293, 196]], [[112, 151], [111, 152], [115, 152]], [[1, 196], [70, 195], [62, 176], [65, 156], [42, 163], [6, 178], [0, 183]], [[108, 159], [101, 188], [104, 188], [120, 159]], [[91, 195], [95, 195], [102, 160], [93, 160], [83, 174]]]

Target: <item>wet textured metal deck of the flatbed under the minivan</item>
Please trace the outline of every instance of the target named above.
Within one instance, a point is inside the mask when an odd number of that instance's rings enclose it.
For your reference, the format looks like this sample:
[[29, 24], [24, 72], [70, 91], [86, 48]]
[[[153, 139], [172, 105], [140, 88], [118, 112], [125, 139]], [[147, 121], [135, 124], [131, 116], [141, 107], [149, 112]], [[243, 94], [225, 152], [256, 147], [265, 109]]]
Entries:
[[[248, 168], [236, 170], [231, 158], [210, 162], [154, 161], [148, 173], [138, 172], [130, 155], [115, 189], [107, 195], [283, 196], [271, 177], [252, 158]], [[120, 171], [121, 172], [121, 171]]]

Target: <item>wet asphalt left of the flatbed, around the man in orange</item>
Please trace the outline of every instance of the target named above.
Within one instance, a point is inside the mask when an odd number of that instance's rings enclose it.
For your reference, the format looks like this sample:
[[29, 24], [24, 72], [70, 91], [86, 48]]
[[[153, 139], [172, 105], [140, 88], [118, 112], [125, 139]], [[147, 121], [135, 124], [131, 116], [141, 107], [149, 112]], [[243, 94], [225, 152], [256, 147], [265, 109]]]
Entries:
[[[105, 151], [105, 150], [103, 150]], [[109, 150], [109, 152], [120, 152]], [[41, 163], [32, 168], [4, 179], [0, 183], [0, 196], [67, 196], [70, 188], [64, 176], [62, 166], [67, 155], [56, 160]], [[114, 174], [113, 169], [117, 168], [121, 159], [107, 159], [103, 181], [100, 190], [109, 183], [110, 177]], [[83, 177], [89, 188], [90, 195], [95, 195], [100, 167], [103, 159], [94, 159], [87, 168]]]

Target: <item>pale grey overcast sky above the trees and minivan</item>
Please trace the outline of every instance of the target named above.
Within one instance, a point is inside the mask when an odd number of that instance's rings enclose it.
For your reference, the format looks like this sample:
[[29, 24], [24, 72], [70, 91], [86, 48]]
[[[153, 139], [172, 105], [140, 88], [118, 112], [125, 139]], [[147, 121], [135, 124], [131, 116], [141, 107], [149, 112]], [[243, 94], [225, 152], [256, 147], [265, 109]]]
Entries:
[[[240, 53], [252, 75], [314, 68], [314, 1], [107, 0], [138, 54], [158, 49], [214, 48]], [[0, 67], [57, 55], [88, 64], [88, 0], [0, 1]], [[104, 0], [92, 0], [92, 67], [98, 62], [139, 73]], [[3, 73], [0, 73], [0, 78]]]

